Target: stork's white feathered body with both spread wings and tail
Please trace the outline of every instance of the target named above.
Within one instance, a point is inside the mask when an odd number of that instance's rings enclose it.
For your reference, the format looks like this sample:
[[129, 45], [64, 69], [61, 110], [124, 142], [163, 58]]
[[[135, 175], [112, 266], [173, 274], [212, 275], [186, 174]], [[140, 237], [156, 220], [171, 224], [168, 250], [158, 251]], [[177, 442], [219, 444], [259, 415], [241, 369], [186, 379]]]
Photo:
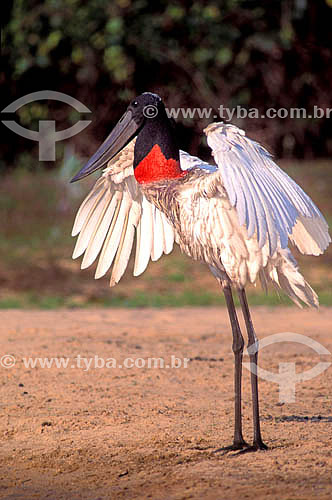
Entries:
[[323, 216], [310, 198], [257, 143], [231, 125], [212, 124], [208, 143], [218, 166], [181, 152], [183, 177], [138, 184], [134, 142], [103, 172], [77, 214], [73, 257], [82, 268], [99, 256], [96, 278], [113, 263], [111, 285], [122, 277], [136, 232], [134, 275], [149, 259], [169, 253], [176, 241], [206, 262], [222, 282], [243, 288], [260, 279], [280, 287], [298, 305], [318, 305], [288, 244], [321, 254], [330, 240]]

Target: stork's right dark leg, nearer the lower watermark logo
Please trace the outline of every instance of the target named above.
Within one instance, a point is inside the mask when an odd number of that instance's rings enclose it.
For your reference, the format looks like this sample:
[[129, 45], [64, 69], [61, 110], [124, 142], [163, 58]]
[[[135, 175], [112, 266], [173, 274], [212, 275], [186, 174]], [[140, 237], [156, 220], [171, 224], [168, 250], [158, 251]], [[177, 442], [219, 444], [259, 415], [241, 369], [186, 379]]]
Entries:
[[[240, 299], [240, 304], [242, 308], [242, 313], [244, 321], [246, 323], [246, 328], [248, 332], [248, 348], [257, 342], [257, 337], [255, 334], [254, 326], [251, 320], [248, 301], [244, 289], [238, 290], [238, 295]], [[250, 351], [250, 350], [249, 350]], [[249, 354], [249, 360], [251, 366], [255, 365], [255, 371], [251, 370], [251, 392], [252, 392], [252, 409], [253, 409], [253, 421], [254, 421], [254, 440], [252, 450], [266, 450], [267, 446], [263, 443], [260, 429], [259, 421], [259, 401], [258, 401], [258, 379], [257, 379], [257, 361], [258, 361], [258, 351], [255, 350], [254, 353]]]

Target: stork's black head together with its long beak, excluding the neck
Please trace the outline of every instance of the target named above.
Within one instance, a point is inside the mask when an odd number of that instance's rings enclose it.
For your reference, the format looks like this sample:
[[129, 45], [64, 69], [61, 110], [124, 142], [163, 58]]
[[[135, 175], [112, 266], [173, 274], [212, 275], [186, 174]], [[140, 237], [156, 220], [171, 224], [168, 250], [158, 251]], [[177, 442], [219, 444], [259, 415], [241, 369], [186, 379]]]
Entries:
[[165, 118], [167, 119], [165, 106], [157, 94], [145, 92], [133, 99], [110, 135], [71, 182], [83, 179], [95, 170], [104, 167], [139, 134], [147, 122]]

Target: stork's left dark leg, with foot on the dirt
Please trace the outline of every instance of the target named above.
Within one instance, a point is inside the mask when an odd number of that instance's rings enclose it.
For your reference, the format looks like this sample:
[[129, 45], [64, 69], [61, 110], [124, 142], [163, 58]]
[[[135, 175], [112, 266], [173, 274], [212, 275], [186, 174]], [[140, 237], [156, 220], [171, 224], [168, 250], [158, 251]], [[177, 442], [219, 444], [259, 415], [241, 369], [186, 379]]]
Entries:
[[223, 286], [223, 292], [226, 299], [226, 305], [233, 333], [232, 348], [234, 352], [234, 361], [235, 361], [235, 372], [234, 372], [235, 427], [234, 427], [233, 445], [228, 446], [226, 448], [222, 448], [220, 451], [222, 450], [231, 451], [231, 450], [241, 450], [242, 448], [248, 447], [248, 444], [245, 442], [242, 436], [242, 411], [241, 411], [242, 357], [243, 357], [244, 340], [241, 333], [239, 320], [236, 315], [231, 287], [229, 285]]

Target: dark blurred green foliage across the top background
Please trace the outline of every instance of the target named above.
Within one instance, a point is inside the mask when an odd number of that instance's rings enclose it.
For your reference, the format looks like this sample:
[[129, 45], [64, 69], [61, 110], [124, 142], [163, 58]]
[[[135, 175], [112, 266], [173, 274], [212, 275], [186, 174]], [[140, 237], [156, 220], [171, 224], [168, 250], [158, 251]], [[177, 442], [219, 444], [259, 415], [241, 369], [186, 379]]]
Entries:
[[[128, 100], [156, 91], [169, 107], [331, 106], [330, 0], [12, 0], [3, 5], [4, 105], [37, 90], [72, 95], [93, 124], [71, 139], [90, 155]], [[17, 113], [70, 126], [72, 109], [35, 102]], [[328, 119], [234, 120], [277, 155], [327, 156]], [[182, 120], [182, 146], [206, 155], [206, 123]], [[37, 146], [3, 127], [4, 162]], [[15, 147], [13, 147], [13, 144]]]

